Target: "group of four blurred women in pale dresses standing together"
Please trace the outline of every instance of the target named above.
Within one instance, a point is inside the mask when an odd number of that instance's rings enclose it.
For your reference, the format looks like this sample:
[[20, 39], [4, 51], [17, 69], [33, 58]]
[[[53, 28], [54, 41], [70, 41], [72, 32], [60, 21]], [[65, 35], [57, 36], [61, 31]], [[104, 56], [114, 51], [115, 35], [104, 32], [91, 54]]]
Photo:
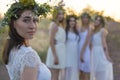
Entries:
[[90, 26], [91, 16], [83, 13], [78, 26], [74, 15], [67, 16], [65, 22], [64, 11], [58, 8], [56, 13], [46, 59], [52, 80], [113, 80], [103, 17], [97, 15]]

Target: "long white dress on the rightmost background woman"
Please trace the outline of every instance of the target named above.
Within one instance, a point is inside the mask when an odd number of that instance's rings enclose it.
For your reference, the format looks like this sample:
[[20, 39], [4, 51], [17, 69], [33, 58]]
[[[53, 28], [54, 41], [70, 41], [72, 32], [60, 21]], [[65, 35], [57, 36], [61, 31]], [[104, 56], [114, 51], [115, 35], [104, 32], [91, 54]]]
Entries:
[[102, 45], [102, 32], [95, 33], [92, 37], [91, 80], [113, 80], [113, 67], [105, 56]]

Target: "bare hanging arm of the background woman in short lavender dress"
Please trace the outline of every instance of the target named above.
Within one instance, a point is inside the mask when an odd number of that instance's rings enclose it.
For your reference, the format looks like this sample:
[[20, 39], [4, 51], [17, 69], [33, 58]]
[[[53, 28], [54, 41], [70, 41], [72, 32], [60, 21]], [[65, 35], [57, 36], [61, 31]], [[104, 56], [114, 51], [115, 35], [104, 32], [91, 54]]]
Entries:
[[80, 59], [81, 59], [82, 62], [84, 62], [84, 60], [83, 60], [84, 51], [85, 51], [88, 43], [90, 42], [91, 35], [92, 35], [92, 29], [89, 28], [89, 29], [88, 29], [88, 34], [87, 34], [87, 36], [86, 36], [85, 43], [84, 43], [84, 45], [83, 45], [83, 47], [82, 47], [82, 50], [81, 50], [81, 52], [80, 52]]

